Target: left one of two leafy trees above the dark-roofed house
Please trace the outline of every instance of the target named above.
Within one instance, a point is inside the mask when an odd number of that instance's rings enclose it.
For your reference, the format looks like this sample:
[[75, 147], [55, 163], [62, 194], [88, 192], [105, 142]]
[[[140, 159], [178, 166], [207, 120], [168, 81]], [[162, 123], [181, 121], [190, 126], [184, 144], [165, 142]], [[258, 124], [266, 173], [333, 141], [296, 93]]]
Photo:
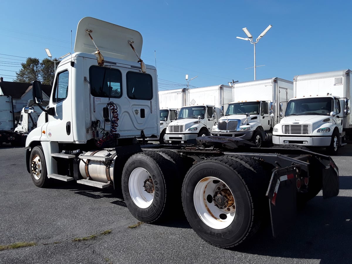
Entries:
[[37, 58], [27, 58], [25, 63], [21, 63], [22, 69], [16, 73], [14, 82], [33, 82], [40, 78], [40, 63]]

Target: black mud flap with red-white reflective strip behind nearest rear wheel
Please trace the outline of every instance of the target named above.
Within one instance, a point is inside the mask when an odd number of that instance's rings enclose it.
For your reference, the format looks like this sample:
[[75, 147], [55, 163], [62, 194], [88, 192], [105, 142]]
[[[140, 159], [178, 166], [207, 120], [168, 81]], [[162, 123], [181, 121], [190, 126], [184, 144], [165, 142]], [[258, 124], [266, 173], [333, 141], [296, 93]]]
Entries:
[[296, 174], [300, 166], [293, 165], [275, 170], [270, 179], [266, 196], [269, 198], [271, 229], [273, 237], [292, 226], [297, 212]]

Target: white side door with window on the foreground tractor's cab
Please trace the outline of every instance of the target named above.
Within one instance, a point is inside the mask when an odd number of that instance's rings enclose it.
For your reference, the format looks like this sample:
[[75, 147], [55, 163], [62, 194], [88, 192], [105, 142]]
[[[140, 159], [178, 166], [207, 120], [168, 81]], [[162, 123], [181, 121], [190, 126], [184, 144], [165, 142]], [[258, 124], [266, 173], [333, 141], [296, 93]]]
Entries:
[[52, 98], [49, 107], [54, 107], [55, 115], [48, 115], [48, 123], [43, 126], [45, 135], [50, 141], [72, 142], [72, 106], [69, 82], [69, 71], [63, 70], [56, 75]]

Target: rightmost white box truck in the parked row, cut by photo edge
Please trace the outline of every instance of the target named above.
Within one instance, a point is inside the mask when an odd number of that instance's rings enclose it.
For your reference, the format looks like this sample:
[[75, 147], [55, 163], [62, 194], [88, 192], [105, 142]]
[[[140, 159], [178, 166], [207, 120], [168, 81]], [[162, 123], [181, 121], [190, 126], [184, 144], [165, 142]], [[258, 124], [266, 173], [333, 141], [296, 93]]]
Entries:
[[336, 154], [351, 137], [351, 70], [297, 75], [293, 83], [294, 98], [282, 109], [273, 143], [326, 147]]

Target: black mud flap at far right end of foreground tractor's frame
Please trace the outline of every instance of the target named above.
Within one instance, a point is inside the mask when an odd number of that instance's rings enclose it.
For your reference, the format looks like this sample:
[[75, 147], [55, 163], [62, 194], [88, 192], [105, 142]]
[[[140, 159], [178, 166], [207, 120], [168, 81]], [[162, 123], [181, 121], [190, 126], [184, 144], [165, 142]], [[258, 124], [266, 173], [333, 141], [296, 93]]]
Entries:
[[323, 198], [330, 198], [339, 194], [339, 168], [335, 162], [330, 158], [328, 168], [323, 169]]

